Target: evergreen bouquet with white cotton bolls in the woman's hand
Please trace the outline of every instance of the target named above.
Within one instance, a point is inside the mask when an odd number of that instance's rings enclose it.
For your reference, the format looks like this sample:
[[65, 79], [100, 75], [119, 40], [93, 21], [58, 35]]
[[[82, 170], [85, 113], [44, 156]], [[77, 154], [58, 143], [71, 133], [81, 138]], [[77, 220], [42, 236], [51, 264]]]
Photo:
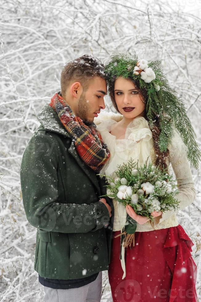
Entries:
[[[150, 223], [154, 221], [151, 215], [153, 211], [168, 211], [177, 209], [179, 201], [175, 197], [178, 194], [177, 185], [172, 175], [169, 175], [167, 169], [163, 171], [146, 163], [142, 167], [138, 167], [138, 162], [134, 162], [131, 158], [127, 164], [118, 165], [114, 172], [114, 178], [105, 176], [106, 187], [109, 193], [102, 196], [114, 198], [122, 205], [130, 205], [136, 214], [147, 217]], [[137, 222], [128, 214], [126, 224], [121, 238], [121, 244], [124, 247], [134, 245], [134, 233], [136, 231]], [[119, 235], [118, 235], [119, 236]]]

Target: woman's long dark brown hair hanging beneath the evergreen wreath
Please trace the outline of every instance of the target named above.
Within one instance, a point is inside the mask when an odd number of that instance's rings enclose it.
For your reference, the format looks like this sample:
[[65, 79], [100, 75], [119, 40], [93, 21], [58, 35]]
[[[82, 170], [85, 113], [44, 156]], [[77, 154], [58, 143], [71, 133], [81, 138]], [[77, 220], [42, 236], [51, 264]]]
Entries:
[[[109, 92], [109, 96], [110, 96], [110, 99], [112, 101], [114, 108], [117, 110], [117, 112], [119, 112], [116, 101], [115, 101], [115, 97], [114, 97], [114, 84], [115, 84], [116, 79], [117, 78], [113, 78], [113, 80], [110, 81], [110, 83], [108, 85], [108, 92]], [[146, 88], [140, 88], [139, 82], [137, 80], [133, 80], [132, 78], [128, 78], [127, 80], [130, 80], [135, 85], [138, 92], [140, 92], [140, 94], [143, 96], [143, 99], [145, 100], [145, 116], [144, 117], [146, 120], [148, 120], [148, 118], [146, 116], [146, 104], [147, 104], [147, 100], [148, 100]], [[166, 169], [167, 168], [166, 158], [169, 156], [169, 150], [167, 149], [167, 151], [161, 152], [159, 149], [158, 140], [159, 140], [159, 135], [160, 135], [160, 128], [159, 128], [158, 116], [156, 115], [154, 117], [154, 119], [155, 119], [154, 126], [152, 129], [150, 128], [152, 135], [153, 135], [153, 143], [154, 143], [154, 151], [155, 151], [155, 163], [154, 164], [157, 167], [160, 167], [160, 169], [164, 169], [164, 168]]]

